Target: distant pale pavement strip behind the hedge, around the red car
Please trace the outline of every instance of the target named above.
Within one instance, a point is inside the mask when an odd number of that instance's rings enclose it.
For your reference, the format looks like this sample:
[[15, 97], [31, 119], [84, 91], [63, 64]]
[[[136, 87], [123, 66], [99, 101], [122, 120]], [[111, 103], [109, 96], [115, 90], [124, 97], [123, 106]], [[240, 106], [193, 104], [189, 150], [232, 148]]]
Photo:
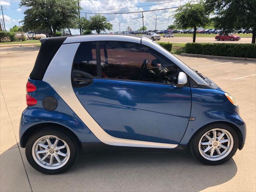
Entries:
[[[192, 37], [161, 37], [160, 41], [163, 42], [175, 42], [175, 43], [192, 43]], [[214, 37], [196, 37], [197, 43], [251, 43], [252, 38], [242, 37], [239, 41], [217, 41]]]

